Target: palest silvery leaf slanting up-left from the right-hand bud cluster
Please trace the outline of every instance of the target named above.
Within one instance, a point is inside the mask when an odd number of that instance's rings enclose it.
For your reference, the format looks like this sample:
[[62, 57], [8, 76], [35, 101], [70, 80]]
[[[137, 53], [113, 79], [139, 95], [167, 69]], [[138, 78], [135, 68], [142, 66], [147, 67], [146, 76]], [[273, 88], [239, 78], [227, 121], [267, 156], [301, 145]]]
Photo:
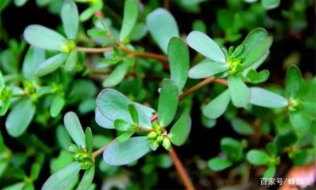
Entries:
[[226, 57], [221, 48], [204, 33], [193, 31], [188, 35], [186, 40], [190, 47], [205, 57], [216, 62], [226, 63]]

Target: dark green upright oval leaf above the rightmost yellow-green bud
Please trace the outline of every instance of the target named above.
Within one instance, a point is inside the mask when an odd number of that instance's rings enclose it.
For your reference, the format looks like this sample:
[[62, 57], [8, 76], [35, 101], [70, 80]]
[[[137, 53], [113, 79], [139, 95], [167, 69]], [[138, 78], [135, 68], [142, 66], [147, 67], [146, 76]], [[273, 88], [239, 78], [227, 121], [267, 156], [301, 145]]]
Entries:
[[285, 95], [287, 98], [296, 98], [301, 87], [303, 77], [299, 68], [295, 65], [287, 69], [285, 76]]

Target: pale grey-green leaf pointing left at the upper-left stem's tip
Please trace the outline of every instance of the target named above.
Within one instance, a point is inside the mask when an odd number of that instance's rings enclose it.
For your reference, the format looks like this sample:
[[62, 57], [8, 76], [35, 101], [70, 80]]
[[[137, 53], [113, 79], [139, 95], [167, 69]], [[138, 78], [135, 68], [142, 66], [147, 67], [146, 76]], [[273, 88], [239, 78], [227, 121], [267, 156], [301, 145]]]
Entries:
[[23, 33], [24, 39], [31, 45], [47, 50], [58, 50], [65, 45], [67, 39], [59, 33], [41, 25], [30, 25]]

